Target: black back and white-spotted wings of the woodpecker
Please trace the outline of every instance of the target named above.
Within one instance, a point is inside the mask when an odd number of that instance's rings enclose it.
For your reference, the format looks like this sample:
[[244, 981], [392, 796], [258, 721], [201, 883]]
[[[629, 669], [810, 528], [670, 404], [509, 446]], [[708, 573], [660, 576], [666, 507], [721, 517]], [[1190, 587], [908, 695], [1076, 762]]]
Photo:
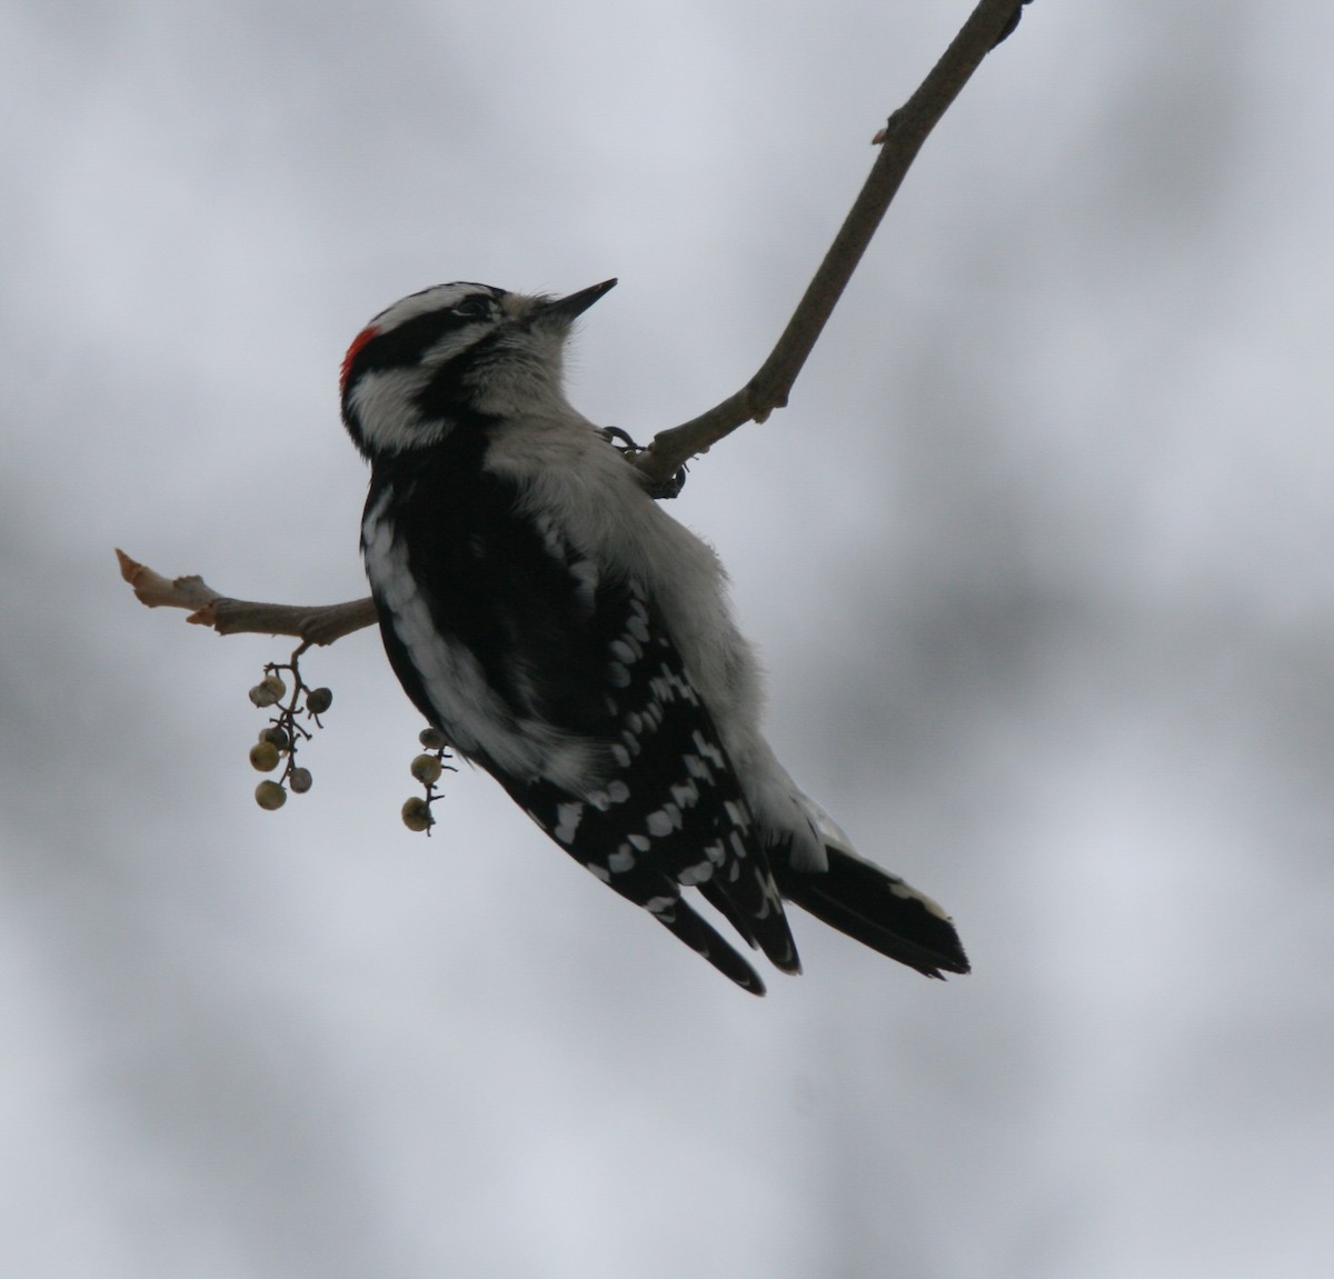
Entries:
[[[638, 583], [606, 579], [558, 529], [520, 515], [507, 481], [468, 471], [463, 485], [448, 459], [418, 460], [410, 476], [386, 468], [372, 477], [368, 508], [395, 485], [394, 532], [432, 629], [472, 655], [514, 731], [555, 726], [587, 743], [598, 767], [576, 788], [462, 752], [575, 860], [763, 994], [751, 966], [680, 895], [698, 884], [751, 946], [799, 971], [750, 807], [663, 617]], [[450, 691], [428, 687], [383, 607], [382, 633], [408, 696], [448, 738]]]

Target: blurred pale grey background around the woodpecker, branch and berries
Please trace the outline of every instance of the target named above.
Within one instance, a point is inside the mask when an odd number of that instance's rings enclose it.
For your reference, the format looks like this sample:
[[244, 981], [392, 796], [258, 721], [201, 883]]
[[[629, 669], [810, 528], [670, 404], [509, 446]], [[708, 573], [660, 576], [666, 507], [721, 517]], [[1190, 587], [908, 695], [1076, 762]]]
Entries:
[[0, 16], [0, 1272], [1182, 1279], [1334, 1246], [1334, 8], [1038, 0], [791, 407], [699, 461], [779, 754], [955, 915], [731, 988], [480, 774], [398, 819], [351, 336], [570, 291], [636, 435], [758, 365], [967, 0]]

